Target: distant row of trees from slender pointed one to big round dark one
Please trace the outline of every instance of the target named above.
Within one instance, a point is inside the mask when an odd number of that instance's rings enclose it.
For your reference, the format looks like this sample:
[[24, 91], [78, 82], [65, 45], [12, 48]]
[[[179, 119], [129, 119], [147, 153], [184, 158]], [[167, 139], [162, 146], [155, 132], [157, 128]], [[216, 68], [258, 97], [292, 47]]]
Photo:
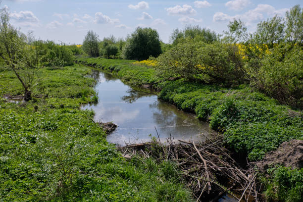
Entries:
[[83, 50], [93, 57], [144, 60], [162, 53], [161, 44], [165, 46], [156, 30], [138, 27], [126, 40], [113, 35], [99, 40], [97, 33], [89, 31], [83, 41]]

